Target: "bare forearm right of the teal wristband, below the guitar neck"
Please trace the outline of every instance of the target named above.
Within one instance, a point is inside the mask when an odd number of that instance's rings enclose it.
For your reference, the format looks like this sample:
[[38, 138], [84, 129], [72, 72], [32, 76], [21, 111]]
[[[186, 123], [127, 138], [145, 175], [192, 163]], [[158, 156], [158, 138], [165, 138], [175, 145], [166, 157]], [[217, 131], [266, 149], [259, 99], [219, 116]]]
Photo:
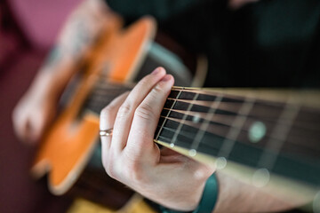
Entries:
[[273, 212], [292, 209], [294, 205], [265, 193], [254, 185], [244, 184], [233, 177], [218, 171], [218, 201], [216, 212]]

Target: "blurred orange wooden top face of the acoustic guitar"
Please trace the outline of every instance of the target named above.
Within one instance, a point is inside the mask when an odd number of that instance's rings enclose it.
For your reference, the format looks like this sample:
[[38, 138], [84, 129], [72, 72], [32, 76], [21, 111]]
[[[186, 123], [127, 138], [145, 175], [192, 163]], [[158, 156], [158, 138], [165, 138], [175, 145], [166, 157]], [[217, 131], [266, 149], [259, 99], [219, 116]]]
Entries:
[[101, 37], [92, 53], [89, 71], [77, 84], [73, 99], [45, 134], [36, 154], [32, 174], [41, 177], [49, 172], [49, 188], [54, 194], [66, 193], [76, 182], [90, 160], [99, 136], [99, 117], [86, 113], [76, 120], [86, 96], [101, 76], [101, 67], [108, 64], [108, 79], [128, 82], [137, 72], [148, 51], [148, 43], [156, 33], [156, 22], [146, 17], [130, 28], [122, 28], [118, 17]]

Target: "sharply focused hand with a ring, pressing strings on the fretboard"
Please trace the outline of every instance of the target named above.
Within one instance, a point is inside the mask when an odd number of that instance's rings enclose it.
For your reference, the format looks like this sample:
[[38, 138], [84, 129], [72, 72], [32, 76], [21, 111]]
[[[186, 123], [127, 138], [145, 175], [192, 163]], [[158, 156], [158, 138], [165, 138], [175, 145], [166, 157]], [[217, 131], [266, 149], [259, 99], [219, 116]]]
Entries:
[[110, 177], [168, 208], [192, 210], [214, 169], [153, 142], [156, 125], [173, 85], [172, 75], [157, 68], [130, 93], [115, 99], [100, 114], [102, 162]]

